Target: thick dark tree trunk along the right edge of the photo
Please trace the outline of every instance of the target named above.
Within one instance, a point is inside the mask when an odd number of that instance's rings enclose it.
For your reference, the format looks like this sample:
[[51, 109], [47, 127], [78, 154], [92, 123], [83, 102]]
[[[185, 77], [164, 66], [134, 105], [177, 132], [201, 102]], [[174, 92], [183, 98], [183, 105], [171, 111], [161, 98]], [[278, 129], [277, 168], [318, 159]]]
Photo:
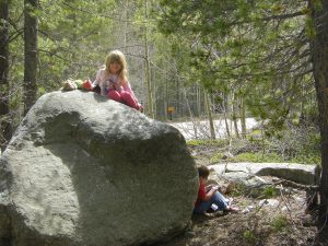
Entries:
[[319, 184], [320, 209], [318, 225], [327, 229], [328, 212], [328, 2], [321, 1], [321, 8], [315, 7], [316, 1], [308, 1], [314, 23], [314, 37], [311, 39], [313, 74], [319, 107], [321, 134], [321, 177]]

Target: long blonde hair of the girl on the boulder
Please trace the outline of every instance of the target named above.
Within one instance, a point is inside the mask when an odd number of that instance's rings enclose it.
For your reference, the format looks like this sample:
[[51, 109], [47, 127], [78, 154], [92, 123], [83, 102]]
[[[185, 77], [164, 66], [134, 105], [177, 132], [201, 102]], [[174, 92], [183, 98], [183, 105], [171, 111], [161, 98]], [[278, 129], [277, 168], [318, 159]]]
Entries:
[[121, 69], [118, 71], [118, 78], [121, 80], [121, 82], [128, 81], [128, 70], [127, 70], [127, 60], [125, 55], [119, 50], [113, 50], [110, 51], [106, 59], [105, 59], [105, 66], [106, 66], [106, 73], [110, 74], [109, 66], [114, 62], [118, 62], [121, 66]]

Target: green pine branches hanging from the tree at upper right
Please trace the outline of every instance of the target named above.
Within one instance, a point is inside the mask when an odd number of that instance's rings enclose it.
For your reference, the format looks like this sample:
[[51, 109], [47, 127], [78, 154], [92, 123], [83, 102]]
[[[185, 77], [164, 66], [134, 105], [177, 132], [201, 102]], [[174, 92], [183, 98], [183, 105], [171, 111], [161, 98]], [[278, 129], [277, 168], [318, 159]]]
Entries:
[[194, 82], [210, 92], [243, 95], [250, 114], [270, 119], [277, 129], [289, 118], [297, 121], [307, 105], [316, 105], [301, 99], [315, 95], [304, 90], [313, 84], [304, 39], [304, 26], [312, 24], [302, 15], [276, 21], [297, 10], [307, 14], [305, 2], [162, 0], [160, 5], [160, 31], [189, 44]]

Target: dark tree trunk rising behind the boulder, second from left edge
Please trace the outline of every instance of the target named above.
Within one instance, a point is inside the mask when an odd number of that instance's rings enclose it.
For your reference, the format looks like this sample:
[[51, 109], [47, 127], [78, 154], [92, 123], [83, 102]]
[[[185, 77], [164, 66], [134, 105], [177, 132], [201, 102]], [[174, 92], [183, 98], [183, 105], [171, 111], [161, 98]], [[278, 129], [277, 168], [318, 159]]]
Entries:
[[24, 0], [24, 114], [36, 101], [37, 93], [37, 16], [38, 0]]

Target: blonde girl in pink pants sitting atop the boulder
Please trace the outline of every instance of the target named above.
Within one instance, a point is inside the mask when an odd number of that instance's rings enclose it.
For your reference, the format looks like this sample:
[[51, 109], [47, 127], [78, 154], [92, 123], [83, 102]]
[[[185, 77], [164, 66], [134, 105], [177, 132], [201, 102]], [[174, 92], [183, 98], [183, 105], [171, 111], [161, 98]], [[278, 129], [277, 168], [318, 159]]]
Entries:
[[119, 103], [124, 103], [137, 110], [142, 110], [127, 78], [127, 62], [125, 55], [113, 50], [105, 59], [93, 82], [93, 87], [99, 86], [101, 94]]

